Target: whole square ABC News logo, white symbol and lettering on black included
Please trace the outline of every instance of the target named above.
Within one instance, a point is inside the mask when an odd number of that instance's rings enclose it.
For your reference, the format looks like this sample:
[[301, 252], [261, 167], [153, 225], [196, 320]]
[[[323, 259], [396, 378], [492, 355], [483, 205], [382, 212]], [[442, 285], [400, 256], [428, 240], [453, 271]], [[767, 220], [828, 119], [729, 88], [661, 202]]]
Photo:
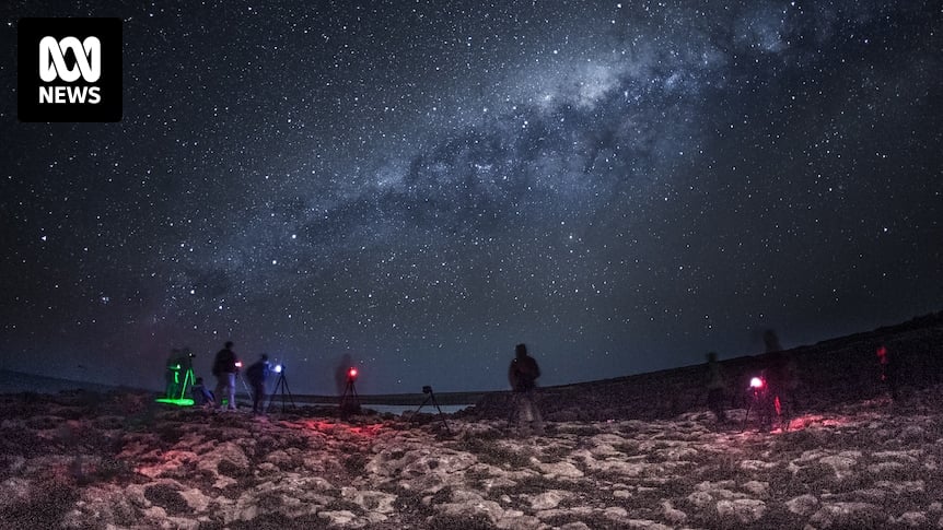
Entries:
[[121, 119], [120, 19], [21, 19], [21, 121]]

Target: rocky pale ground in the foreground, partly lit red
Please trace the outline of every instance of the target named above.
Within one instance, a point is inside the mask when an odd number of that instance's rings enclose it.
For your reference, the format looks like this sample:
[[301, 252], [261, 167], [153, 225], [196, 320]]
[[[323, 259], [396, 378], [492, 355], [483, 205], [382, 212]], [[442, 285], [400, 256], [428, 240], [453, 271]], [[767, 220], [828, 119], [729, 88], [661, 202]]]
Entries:
[[943, 388], [762, 433], [0, 397], [0, 528], [943, 528]]

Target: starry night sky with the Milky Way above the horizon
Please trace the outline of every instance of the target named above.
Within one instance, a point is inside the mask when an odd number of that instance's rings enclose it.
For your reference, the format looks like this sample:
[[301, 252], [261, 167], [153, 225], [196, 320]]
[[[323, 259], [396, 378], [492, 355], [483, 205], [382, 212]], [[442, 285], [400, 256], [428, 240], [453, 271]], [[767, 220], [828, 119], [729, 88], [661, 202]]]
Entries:
[[[3, 368], [487, 390], [943, 309], [939, 2], [12, 3]], [[120, 122], [19, 122], [21, 16], [124, 20]]]

